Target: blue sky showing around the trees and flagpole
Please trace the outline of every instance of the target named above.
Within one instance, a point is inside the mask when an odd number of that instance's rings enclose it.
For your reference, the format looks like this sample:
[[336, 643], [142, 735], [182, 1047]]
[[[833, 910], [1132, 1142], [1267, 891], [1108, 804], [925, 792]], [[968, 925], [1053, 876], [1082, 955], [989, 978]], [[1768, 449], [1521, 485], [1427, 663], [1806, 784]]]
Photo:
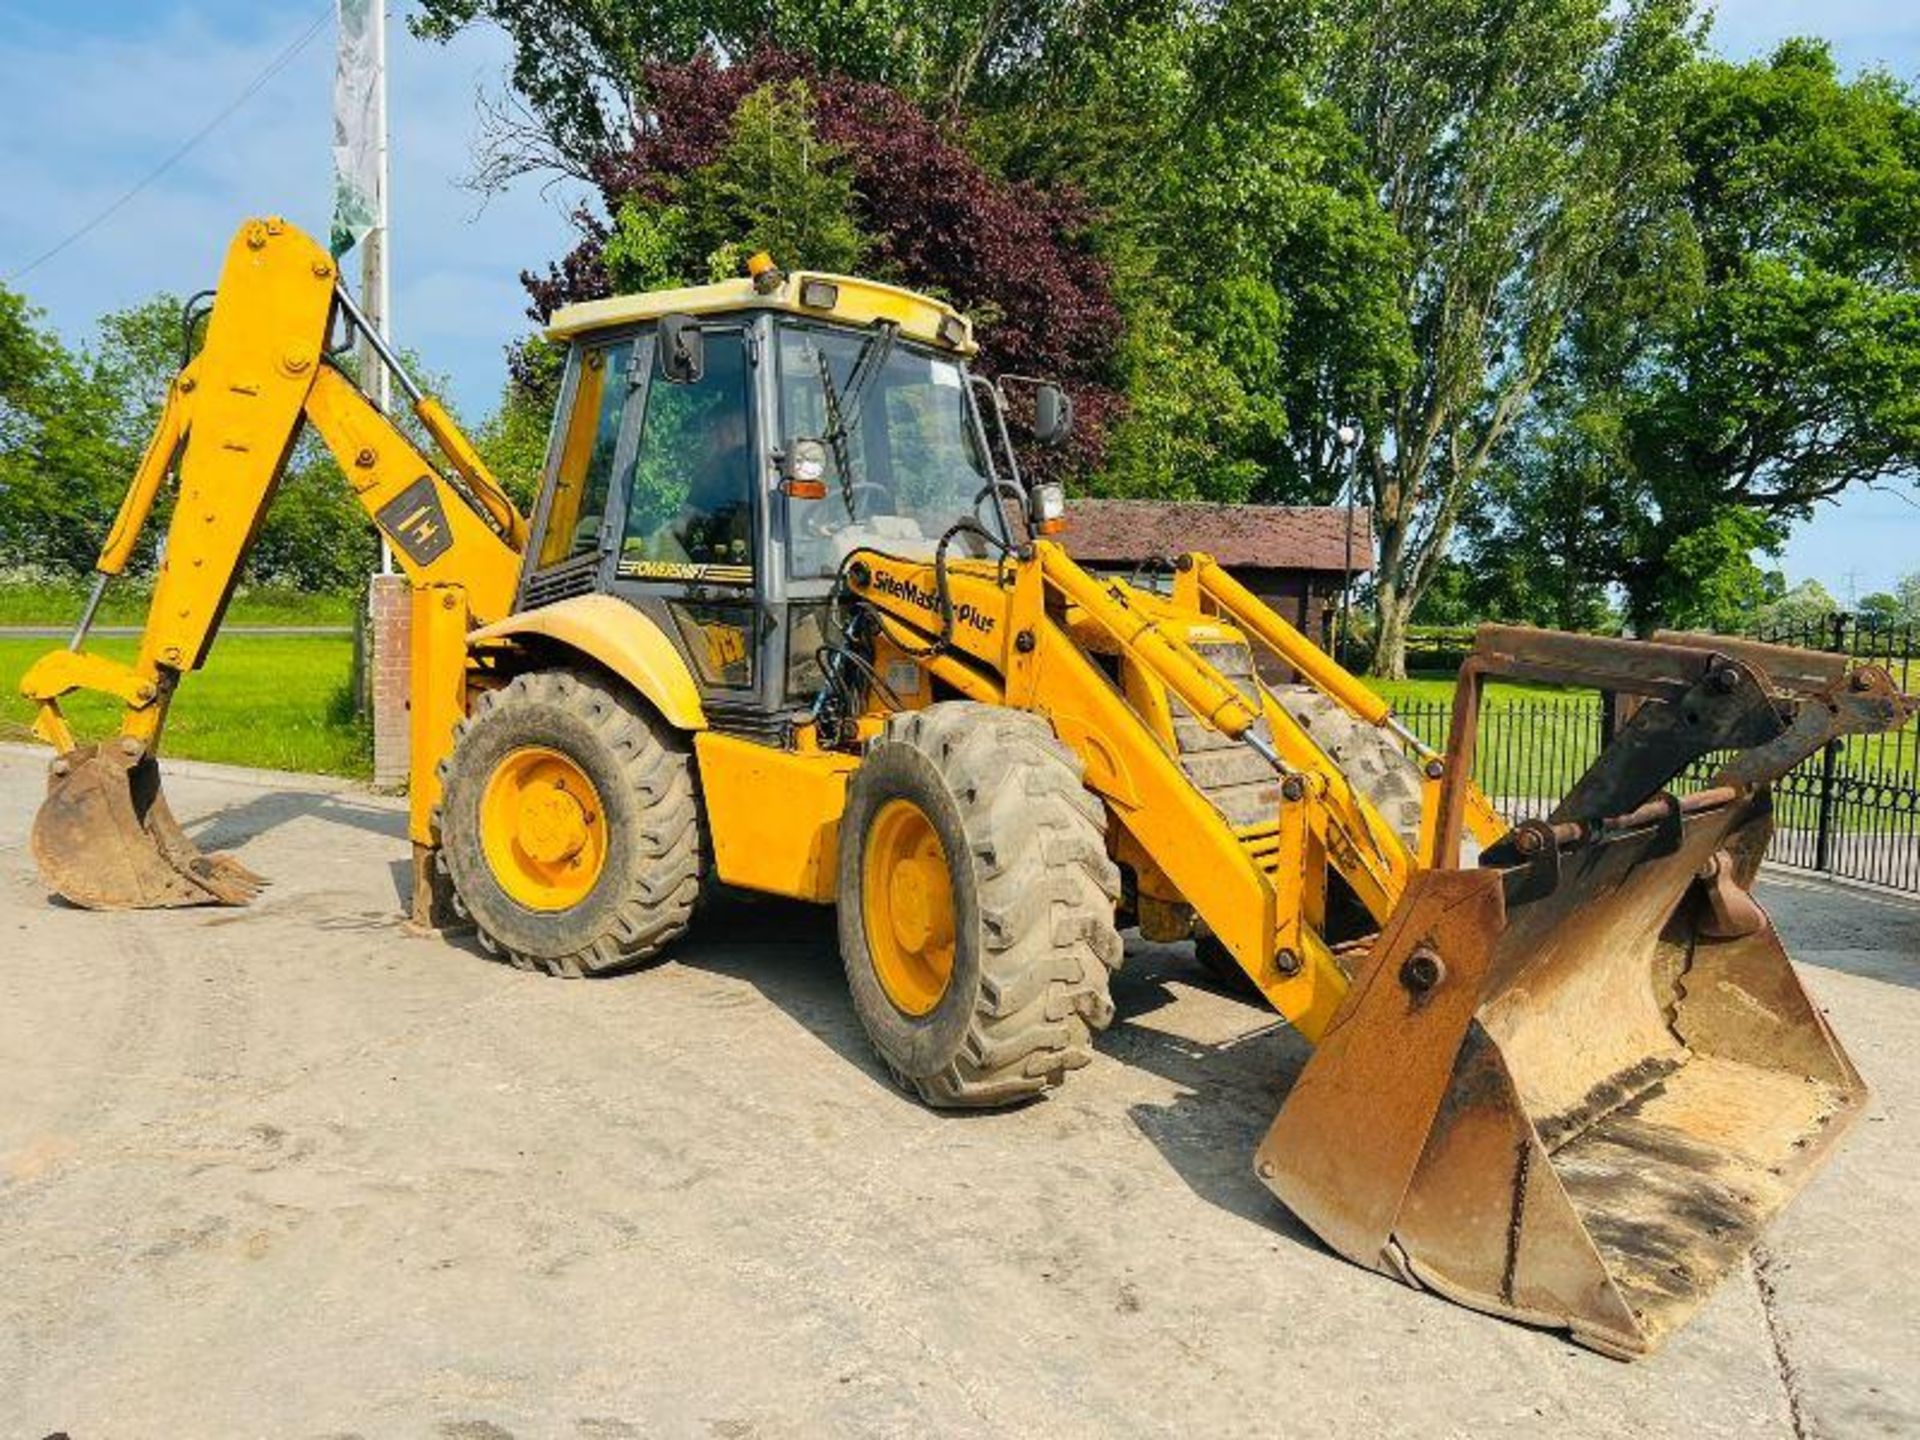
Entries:
[[[278, 211], [324, 234], [330, 204], [332, 29], [100, 228], [27, 276], [35, 255], [121, 196], [219, 113], [334, 0], [0, 0], [0, 278], [69, 338], [156, 290], [211, 284], [234, 223]], [[568, 244], [572, 192], [534, 184], [482, 204], [459, 180], [478, 129], [474, 88], [497, 88], [507, 52], [470, 33], [424, 46], [390, 6], [394, 332], [451, 376], [480, 415], [505, 378], [501, 346], [524, 328], [518, 273]], [[1734, 56], [1814, 31], [1847, 65], [1920, 79], [1912, 0], [1724, 0], [1716, 42]], [[1801, 526], [1793, 580], [1843, 601], [1920, 570], [1912, 486], [1860, 492]]]

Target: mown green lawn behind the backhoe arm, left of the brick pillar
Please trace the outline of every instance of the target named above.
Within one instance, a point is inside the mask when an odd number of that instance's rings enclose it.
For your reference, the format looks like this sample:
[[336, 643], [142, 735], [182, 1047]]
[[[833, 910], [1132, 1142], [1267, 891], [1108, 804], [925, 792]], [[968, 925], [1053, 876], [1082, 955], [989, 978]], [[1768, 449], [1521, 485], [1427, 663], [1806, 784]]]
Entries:
[[[19, 678], [48, 651], [46, 639], [0, 637], [0, 737], [33, 739], [33, 707]], [[132, 639], [96, 639], [88, 649], [131, 660]], [[353, 641], [348, 636], [238, 636], [213, 641], [207, 668], [188, 674], [167, 716], [161, 753], [190, 760], [372, 774], [372, 733], [351, 712]], [[111, 733], [117, 705], [94, 695], [65, 703], [83, 737]]]

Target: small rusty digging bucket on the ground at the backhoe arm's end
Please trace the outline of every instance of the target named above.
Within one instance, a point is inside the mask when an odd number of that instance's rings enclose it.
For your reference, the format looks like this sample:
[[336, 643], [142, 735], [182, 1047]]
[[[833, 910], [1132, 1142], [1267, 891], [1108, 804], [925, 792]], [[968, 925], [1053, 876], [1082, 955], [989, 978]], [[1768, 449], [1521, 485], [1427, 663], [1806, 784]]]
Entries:
[[202, 854], [136, 741], [79, 745], [54, 760], [33, 858], [50, 891], [88, 910], [246, 904], [267, 883], [232, 856]]

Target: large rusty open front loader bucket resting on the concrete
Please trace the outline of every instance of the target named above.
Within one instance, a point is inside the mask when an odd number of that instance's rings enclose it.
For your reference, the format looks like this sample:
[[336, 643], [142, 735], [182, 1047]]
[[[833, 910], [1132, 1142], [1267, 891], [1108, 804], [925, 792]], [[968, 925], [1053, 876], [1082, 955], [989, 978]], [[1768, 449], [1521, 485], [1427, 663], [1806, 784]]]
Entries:
[[1653, 1350], [1866, 1091], [1747, 897], [1764, 789], [1532, 824], [1419, 876], [1258, 1152], [1334, 1250]]

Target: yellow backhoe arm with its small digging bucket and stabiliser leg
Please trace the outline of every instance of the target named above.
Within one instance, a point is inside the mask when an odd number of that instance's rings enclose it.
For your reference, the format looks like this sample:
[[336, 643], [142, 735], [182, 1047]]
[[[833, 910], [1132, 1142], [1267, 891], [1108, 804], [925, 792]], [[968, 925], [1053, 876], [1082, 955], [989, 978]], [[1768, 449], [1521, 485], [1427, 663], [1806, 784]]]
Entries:
[[[167, 401], [96, 564], [94, 595], [67, 649], [21, 680], [35, 733], [60, 751], [35, 854], [77, 904], [194, 904], [248, 899], [257, 877], [207, 860], [159, 795], [154, 753], [180, 676], [205, 664], [301, 426], [321, 436], [353, 497], [392, 543], [415, 588], [415, 841], [424, 843], [434, 766], [465, 693], [465, 636], [513, 603], [526, 522], [445, 409], [397, 363], [413, 409], [451, 474], [436, 468], [326, 355], [336, 313], [361, 324], [334, 263], [276, 219], [240, 227], [227, 252], [200, 353]], [[123, 574], [163, 484], [173, 515], [134, 660], [83, 649], [108, 580]], [[121, 703], [113, 745], [79, 745], [61, 699], [75, 689]], [[444, 732], [444, 733], [442, 733]]]

